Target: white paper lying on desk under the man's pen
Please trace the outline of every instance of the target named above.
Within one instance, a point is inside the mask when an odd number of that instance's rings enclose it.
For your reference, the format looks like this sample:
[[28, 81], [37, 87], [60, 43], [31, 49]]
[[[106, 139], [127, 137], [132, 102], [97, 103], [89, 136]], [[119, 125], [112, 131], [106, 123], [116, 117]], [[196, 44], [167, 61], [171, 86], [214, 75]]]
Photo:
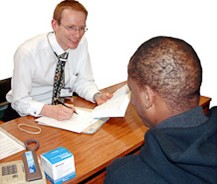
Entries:
[[79, 108], [76, 108], [76, 111], [78, 114], [73, 114], [72, 118], [69, 120], [58, 121], [56, 119], [43, 116], [35, 121], [37, 121], [40, 125], [52, 126], [81, 133], [85, 128], [99, 120], [91, 116], [91, 111], [88, 112]]

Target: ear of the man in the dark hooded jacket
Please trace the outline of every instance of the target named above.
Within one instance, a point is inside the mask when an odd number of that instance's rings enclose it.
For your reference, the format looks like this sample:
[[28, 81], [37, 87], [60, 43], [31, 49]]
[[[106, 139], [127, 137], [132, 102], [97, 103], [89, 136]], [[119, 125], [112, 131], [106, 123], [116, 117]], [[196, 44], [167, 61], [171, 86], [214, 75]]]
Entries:
[[148, 109], [153, 105], [155, 92], [150, 86], [146, 85], [144, 86], [143, 95], [144, 95], [143, 99], [144, 99], [145, 108]]

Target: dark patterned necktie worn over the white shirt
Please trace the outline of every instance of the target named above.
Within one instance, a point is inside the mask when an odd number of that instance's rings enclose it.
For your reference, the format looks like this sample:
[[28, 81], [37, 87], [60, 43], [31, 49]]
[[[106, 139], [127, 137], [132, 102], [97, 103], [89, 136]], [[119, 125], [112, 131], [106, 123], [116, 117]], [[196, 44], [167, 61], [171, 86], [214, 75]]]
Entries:
[[55, 76], [54, 76], [54, 85], [53, 85], [53, 98], [52, 98], [52, 104], [58, 104], [58, 102], [55, 101], [55, 98], [58, 98], [62, 102], [64, 99], [60, 98], [60, 91], [62, 88], [65, 86], [65, 64], [68, 59], [69, 53], [64, 52], [60, 56], [58, 56], [55, 53], [56, 57], [58, 58], [57, 66], [56, 66], [56, 71], [55, 71]]

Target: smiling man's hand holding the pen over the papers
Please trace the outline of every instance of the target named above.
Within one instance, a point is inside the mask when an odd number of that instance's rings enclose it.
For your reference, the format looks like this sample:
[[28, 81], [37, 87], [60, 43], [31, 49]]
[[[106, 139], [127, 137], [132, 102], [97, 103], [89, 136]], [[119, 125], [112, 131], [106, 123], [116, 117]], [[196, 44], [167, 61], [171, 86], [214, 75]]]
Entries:
[[58, 105], [45, 104], [41, 110], [40, 115], [54, 118], [59, 121], [67, 120], [70, 119], [75, 112], [75, 108], [73, 105], [67, 104], [67, 106], [68, 107], [65, 107], [61, 104]]

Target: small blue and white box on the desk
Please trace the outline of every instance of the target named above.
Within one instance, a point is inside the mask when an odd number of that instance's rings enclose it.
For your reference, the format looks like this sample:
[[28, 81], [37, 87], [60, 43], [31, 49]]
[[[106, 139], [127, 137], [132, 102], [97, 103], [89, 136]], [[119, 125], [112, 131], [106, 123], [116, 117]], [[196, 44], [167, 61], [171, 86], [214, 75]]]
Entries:
[[41, 154], [46, 177], [53, 184], [61, 184], [76, 175], [74, 155], [64, 147]]

